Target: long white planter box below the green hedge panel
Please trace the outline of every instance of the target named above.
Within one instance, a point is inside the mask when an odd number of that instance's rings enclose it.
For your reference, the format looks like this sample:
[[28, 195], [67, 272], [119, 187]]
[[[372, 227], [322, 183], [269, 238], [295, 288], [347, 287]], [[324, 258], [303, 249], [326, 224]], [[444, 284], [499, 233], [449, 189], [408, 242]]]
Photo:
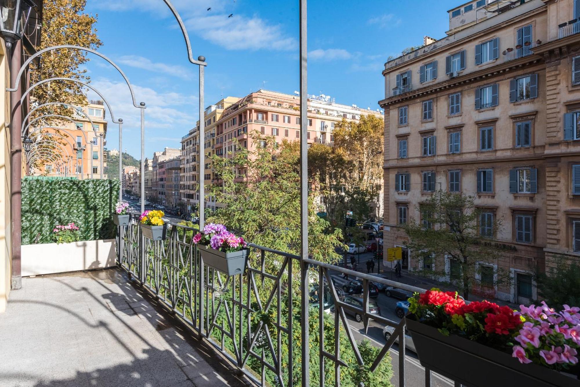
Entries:
[[22, 246], [22, 276], [115, 266], [115, 239]]

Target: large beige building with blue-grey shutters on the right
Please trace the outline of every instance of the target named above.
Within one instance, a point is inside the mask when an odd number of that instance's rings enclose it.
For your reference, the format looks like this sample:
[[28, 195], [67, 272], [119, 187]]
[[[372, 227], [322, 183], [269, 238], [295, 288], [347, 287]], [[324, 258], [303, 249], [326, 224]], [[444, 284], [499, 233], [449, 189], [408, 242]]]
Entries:
[[[580, 256], [579, 12], [572, 0], [470, 1], [449, 10], [448, 36], [385, 64], [385, 249], [404, 246], [398, 226], [443, 189], [473, 195], [481, 234], [505, 251], [488, 275], [503, 268], [513, 283], [485, 297], [533, 300], [536, 268]], [[454, 271], [404, 250], [404, 269], [432, 264]]]

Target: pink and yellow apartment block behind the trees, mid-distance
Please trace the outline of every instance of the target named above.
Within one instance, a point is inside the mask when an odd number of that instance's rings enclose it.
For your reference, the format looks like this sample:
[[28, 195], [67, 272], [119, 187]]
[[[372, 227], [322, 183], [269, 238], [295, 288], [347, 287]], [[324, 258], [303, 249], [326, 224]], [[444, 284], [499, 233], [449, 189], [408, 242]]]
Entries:
[[[333, 98], [321, 94], [308, 98], [308, 142], [332, 145], [333, 129], [336, 123], [346, 119], [358, 121], [361, 115], [373, 114], [383, 117], [380, 111], [361, 109], [356, 105], [337, 104]], [[282, 140], [296, 141], [300, 138], [299, 96], [258, 90], [243, 98], [227, 97], [218, 104], [211, 105], [205, 111], [205, 184], [217, 183], [212, 170], [211, 156], [227, 156], [237, 149], [236, 139], [241, 147], [256, 149], [256, 144], [249, 133], [256, 132], [274, 136], [278, 143]], [[197, 205], [195, 193], [197, 187], [197, 128], [182, 139], [182, 200], [191, 200]], [[185, 163], [184, 163], [185, 160]], [[189, 163], [187, 161], [189, 160]], [[184, 169], [186, 171], [184, 171]], [[240, 171], [243, 174], [244, 171]], [[183, 187], [190, 187], [183, 190]], [[382, 196], [380, 198], [382, 201]], [[188, 202], [189, 206], [189, 202]], [[215, 209], [219, 203], [215, 198], [206, 195], [205, 206]]]

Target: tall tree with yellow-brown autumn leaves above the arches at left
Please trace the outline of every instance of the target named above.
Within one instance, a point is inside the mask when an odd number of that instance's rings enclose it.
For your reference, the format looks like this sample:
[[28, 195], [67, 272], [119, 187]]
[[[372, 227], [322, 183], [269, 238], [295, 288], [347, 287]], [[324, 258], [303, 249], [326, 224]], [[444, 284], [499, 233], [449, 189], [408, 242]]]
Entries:
[[[42, 4], [42, 30], [37, 50], [57, 45], [76, 45], [91, 49], [99, 48], [103, 43], [97, 36], [94, 24], [97, 16], [85, 13], [86, 0], [48, 0]], [[89, 82], [86, 69], [87, 53], [81, 50], [52, 50], [40, 57], [40, 65], [30, 73], [30, 83], [49, 78], [73, 78]], [[55, 81], [35, 87], [32, 97], [38, 104], [64, 102], [72, 105], [87, 103], [82, 85], [75, 82]], [[32, 118], [45, 114], [71, 116], [72, 109], [52, 105], [37, 109]], [[54, 122], [46, 120], [45, 122]]]

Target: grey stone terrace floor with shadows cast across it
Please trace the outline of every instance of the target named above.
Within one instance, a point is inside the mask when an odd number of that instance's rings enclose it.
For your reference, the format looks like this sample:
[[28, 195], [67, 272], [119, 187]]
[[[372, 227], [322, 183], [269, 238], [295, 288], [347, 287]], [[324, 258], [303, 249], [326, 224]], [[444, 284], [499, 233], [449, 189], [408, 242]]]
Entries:
[[118, 269], [24, 278], [0, 313], [2, 387], [242, 386]]

